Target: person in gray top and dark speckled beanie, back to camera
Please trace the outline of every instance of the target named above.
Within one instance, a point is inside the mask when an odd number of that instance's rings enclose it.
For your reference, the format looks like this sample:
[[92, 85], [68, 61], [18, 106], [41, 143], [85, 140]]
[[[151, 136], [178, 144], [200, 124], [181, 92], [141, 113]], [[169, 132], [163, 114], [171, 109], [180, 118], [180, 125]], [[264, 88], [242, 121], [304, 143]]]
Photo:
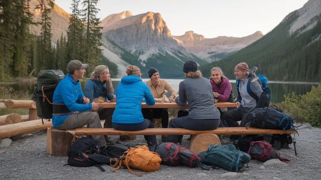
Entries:
[[[187, 116], [169, 121], [169, 128], [185, 128], [189, 130], [214, 130], [219, 127], [220, 111], [214, 104], [212, 85], [197, 70], [195, 61], [186, 61], [183, 72], [186, 79], [179, 83], [178, 97], [175, 102], [185, 106], [188, 102]], [[178, 135], [168, 135], [167, 142], [177, 143]]]

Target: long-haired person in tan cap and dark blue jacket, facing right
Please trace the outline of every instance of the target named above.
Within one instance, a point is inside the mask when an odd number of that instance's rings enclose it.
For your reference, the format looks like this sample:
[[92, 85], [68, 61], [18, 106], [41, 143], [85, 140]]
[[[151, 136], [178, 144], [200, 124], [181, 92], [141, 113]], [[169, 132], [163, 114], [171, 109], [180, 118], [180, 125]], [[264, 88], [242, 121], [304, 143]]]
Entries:
[[[114, 88], [111, 83], [108, 66], [99, 65], [91, 73], [91, 78], [86, 82], [84, 92], [85, 96], [94, 102], [96, 98], [102, 97], [104, 101], [113, 100]], [[97, 110], [99, 118], [105, 119], [104, 128], [113, 128], [112, 115], [115, 108], [99, 108]], [[104, 135], [107, 143], [110, 143], [108, 136]]]

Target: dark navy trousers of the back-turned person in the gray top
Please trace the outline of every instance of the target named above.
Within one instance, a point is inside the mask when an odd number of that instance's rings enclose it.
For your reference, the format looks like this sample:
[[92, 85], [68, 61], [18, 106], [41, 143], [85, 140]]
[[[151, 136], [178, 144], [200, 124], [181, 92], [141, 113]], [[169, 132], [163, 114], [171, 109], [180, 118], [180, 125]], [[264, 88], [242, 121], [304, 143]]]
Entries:
[[[180, 113], [184, 114], [184, 111], [185, 110], [181, 110]], [[185, 128], [195, 131], [214, 130], [219, 127], [220, 122], [221, 119], [191, 119], [188, 116], [183, 116], [171, 119], [169, 121], [169, 128]], [[167, 135], [167, 142], [177, 143], [177, 141], [178, 135]]]

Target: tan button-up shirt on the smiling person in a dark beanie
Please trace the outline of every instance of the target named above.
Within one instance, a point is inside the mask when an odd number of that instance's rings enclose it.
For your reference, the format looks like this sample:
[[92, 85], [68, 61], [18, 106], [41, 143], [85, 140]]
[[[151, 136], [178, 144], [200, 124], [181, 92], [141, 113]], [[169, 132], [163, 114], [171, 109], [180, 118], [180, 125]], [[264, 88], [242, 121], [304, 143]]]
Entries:
[[164, 96], [166, 97], [165, 94], [165, 90], [167, 92], [169, 92], [169, 94], [171, 96], [174, 96], [174, 98], [177, 96], [177, 93], [174, 91], [174, 89], [172, 88], [172, 86], [169, 85], [169, 83], [164, 80], [164, 79], [159, 79], [158, 84], [156, 86], [156, 88], [154, 88], [152, 86], [152, 80], [148, 80], [145, 82], [147, 84], [147, 86], [149, 87], [149, 89], [151, 90], [153, 97], [156, 99], [158, 98], [164, 98]]

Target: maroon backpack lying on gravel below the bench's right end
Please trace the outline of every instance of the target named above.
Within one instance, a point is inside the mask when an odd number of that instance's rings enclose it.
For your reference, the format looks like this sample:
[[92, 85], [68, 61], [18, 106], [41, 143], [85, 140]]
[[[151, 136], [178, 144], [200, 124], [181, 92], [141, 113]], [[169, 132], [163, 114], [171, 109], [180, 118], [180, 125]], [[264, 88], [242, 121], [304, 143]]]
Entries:
[[252, 158], [265, 162], [271, 159], [279, 159], [282, 162], [288, 163], [290, 160], [280, 158], [280, 154], [273, 149], [272, 145], [266, 141], [255, 141], [250, 143], [250, 149], [247, 154]]

